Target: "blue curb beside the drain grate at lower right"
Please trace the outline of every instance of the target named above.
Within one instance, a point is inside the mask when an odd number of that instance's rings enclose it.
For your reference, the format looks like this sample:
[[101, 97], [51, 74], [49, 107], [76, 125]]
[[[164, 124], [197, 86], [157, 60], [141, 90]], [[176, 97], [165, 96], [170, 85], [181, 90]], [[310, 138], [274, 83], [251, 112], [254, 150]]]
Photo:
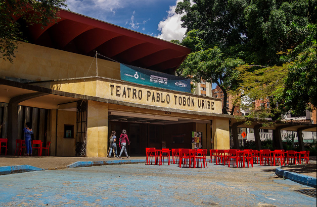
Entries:
[[283, 170], [280, 167], [276, 168], [275, 174], [279, 177], [292, 180], [292, 181], [300, 183], [302, 185], [308, 185], [310, 187], [316, 188], [316, 178], [315, 177], [301, 175], [301, 174], [294, 173], [294, 172], [289, 172], [287, 170]]

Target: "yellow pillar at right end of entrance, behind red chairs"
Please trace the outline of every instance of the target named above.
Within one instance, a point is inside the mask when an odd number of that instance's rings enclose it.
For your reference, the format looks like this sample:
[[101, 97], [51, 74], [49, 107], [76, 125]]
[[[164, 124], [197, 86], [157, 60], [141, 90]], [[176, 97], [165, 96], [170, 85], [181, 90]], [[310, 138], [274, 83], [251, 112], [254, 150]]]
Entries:
[[213, 121], [214, 141], [213, 147], [218, 150], [230, 149], [230, 133], [228, 119], [215, 119]]

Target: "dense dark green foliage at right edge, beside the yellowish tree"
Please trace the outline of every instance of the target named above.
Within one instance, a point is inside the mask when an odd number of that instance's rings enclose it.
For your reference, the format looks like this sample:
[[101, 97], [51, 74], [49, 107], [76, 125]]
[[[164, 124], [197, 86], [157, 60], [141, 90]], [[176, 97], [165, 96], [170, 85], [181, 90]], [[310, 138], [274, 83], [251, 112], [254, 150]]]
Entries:
[[302, 113], [316, 109], [316, 25], [308, 25], [309, 35], [290, 53], [285, 90], [280, 97], [284, 112]]

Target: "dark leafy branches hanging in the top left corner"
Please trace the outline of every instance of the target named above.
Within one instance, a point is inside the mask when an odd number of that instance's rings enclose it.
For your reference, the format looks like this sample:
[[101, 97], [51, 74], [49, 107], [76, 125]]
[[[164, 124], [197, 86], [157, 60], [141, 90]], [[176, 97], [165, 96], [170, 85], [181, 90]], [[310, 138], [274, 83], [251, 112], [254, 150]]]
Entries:
[[10, 62], [15, 57], [18, 41], [25, 41], [19, 31], [19, 21], [43, 27], [58, 19], [58, 11], [67, 0], [1, 0], [0, 1], [0, 58]]

